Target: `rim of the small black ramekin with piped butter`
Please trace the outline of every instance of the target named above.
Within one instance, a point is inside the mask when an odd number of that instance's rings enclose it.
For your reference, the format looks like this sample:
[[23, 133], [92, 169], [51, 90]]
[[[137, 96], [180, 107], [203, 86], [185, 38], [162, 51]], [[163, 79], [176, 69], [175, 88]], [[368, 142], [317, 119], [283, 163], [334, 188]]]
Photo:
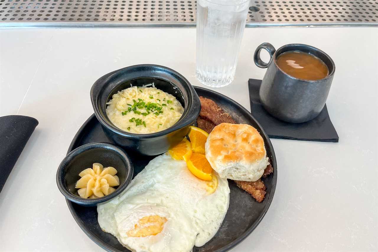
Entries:
[[[114, 192], [112, 192], [108, 195], [105, 195], [101, 198], [84, 199], [84, 198], [80, 198], [79, 196], [74, 195], [72, 192], [70, 192], [67, 189], [67, 186], [65, 185], [64, 168], [67, 166], [67, 165], [65, 165], [67, 163], [67, 161], [70, 161], [71, 159], [73, 159], [77, 155], [79, 155], [83, 152], [86, 152], [87, 150], [93, 149], [93, 148], [101, 148], [101, 149], [106, 149], [108, 151], [118, 153], [118, 155], [120, 155], [121, 158], [125, 161], [125, 165], [127, 167], [126, 169], [129, 169], [129, 172], [127, 173], [125, 181], [122, 184], [120, 184]], [[116, 196], [118, 196], [120, 193], [122, 193], [127, 188], [127, 186], [130, 184], [130, 181], [133, 177], [133, 173], [134, 173], [134, 167], [133, 167], [133, 164], [131, 162], [131, 159], [129, 158], [127, 153], [122, 148], [120, 148], [120, 147], [118, 147], [114, 144], [110, 144], [110, 143], [106, 143], [106, 142], [92, 142], [92, 143], [84, 144], [84, 145], [81, 145], [81, 146], [75, 148], [70, 153], [68, 153], [67, 156], [64, 157], [62, 162], [60, 162], [58, 170], [56, 172], [56, 183], [57, 183], [57, 186], [58, 186], [58, 189], [60, 190], [60, 192], [69, 201], [80, 204], [82, 206], [94, 206], [96, 204], [103, 203], [105, 201], [113, 199]]]

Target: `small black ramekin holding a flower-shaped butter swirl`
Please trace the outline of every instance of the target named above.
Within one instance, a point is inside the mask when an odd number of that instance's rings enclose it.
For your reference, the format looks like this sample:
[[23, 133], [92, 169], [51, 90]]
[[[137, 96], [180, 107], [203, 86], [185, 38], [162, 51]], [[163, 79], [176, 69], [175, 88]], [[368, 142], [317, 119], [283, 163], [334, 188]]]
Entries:
[[[91, 168], [93, 163], [100, 163], [104, 167], [112, 166], [117, 170], [119, 186], [115, 191], [96, 199], [80, 198], [75, 188], [80, 179], [79, 173], [84, 169]], [[56, 184], [60, 192], [70, 201], [82, 206], [96, 206], [113, 199], [123, 192], [133, 177], [133, 164], [122, 148], [114, 144], [94, 142], [77, 147], [60, 163], [56, 173]]]

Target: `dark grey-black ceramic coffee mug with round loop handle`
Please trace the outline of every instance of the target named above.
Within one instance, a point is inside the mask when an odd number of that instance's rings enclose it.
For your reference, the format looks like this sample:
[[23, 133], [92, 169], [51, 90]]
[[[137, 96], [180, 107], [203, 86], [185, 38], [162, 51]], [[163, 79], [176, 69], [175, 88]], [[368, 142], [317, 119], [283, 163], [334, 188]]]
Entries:
[[[268, 63], [260, 59], [260, 51], [270, 54]], [[290, 76], [277, 65], [277, 57], [287, 51], [310, 53], [328, 67], [328, 75], [320, 80], [304, 80]], [[254, 62], [260, 68], [268, 68], [260, 86], [260, 101], [274, 117], [286, 122], [307, 122], [322, 111], [330, 91], [335, 63], [330, 56], [313, 46], [289, 44], [277, 51], [270, 43], [262, 43], [254, 53]]]

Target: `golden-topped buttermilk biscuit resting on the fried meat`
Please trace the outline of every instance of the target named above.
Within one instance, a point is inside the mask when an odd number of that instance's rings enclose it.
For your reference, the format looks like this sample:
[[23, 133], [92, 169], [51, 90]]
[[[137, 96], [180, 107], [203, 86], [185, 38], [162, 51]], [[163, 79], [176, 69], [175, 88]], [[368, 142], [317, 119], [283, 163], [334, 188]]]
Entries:
[[205, 150], [206, 159], [221, 178], [257, 181], [269, 164], [262, 137], [247, 124], [217, 125]]

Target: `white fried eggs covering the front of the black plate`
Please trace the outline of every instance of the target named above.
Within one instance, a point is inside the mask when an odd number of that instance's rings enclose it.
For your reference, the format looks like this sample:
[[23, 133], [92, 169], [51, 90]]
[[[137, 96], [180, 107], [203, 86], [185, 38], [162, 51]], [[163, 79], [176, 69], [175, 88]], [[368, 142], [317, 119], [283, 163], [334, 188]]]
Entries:
[[214, 177], [198, 179], [186, 162], [163, 154], [98, 205], [98, 223], [132, 251], [192, 251], [214, 237], [228, 210], [227, 179]]

